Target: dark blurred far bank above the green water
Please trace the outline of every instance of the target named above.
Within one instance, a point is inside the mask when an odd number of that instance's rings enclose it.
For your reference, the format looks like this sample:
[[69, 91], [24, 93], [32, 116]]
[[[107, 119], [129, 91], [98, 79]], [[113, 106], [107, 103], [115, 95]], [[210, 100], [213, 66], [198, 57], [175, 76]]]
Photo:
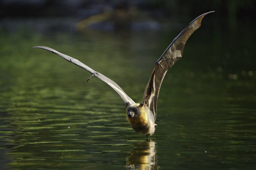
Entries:
[[[162, 23], [183, 22], [190, 16], [195, 17], [212, 10], [216, 11], [214, 18], [220, 23], [229, 22], [232, 26], [235, 26], [238, 20], [254, 23], [255, 7], [256, 0], [0, 0], [0, 16], [7, 29], [12, 27], [8, 20], [10, 18], [15, 21], [58, 18], [52, 23], [58, 22], [69, 28], [78, 21], [88, 19], [76, 27], [154, 30], [161, 29]], [[95, 17], [91, 18], [92, 16]], [[99, 21], [105, 23], [96, 24]], [[36, 24], [40, 23], [34, 23], [34, 26]]]

